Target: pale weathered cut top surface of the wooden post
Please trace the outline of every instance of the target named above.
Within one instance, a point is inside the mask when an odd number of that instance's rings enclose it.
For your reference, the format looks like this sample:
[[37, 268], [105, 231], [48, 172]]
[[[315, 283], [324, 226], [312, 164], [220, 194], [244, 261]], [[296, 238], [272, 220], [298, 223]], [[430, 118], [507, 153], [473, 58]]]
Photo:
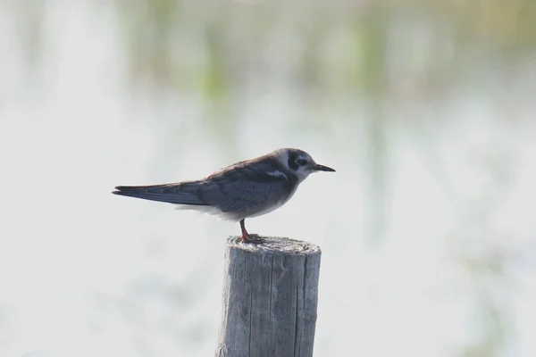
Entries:
[[320, 247], [309, 242], [285, 237], [262, 237], [259, 243], [247, 243], [240, 237], [229, 237], [228, 245], [250, 253], [270, 253], [282, 255], [309, 255], [321, 253]]

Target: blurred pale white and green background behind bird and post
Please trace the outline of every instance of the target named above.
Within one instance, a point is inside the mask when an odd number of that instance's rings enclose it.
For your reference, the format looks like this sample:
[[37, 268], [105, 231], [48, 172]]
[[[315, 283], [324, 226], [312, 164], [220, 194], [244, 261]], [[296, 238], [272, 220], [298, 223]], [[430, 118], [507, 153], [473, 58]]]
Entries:
[[535, 94], [531, 0], [4, 0], [0, 355], [213, 355], [239, 224], [110, 192], [290, 146], [315, 356], [534, 356]]

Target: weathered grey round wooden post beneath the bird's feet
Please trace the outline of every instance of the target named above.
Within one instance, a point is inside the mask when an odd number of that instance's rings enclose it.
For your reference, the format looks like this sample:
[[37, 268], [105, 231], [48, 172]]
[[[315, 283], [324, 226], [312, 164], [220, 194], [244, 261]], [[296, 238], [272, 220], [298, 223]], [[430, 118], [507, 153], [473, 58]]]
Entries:
[[281, 237], [227, 239], [217, 357], [310, 357], [321, 251]]

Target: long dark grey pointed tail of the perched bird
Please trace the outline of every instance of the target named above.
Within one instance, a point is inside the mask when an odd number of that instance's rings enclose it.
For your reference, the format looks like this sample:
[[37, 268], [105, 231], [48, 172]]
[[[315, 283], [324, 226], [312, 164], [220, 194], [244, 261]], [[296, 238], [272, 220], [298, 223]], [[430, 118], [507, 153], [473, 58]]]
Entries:
[[114, 195], [126, 195], [141, 198], [143, 200], [158, 201], [176, 204], [206, 205], [199, 196], [201, 183], [198, 181], [186, 181], [176, 184], [151, 185], [151, 186], [118, 186]]

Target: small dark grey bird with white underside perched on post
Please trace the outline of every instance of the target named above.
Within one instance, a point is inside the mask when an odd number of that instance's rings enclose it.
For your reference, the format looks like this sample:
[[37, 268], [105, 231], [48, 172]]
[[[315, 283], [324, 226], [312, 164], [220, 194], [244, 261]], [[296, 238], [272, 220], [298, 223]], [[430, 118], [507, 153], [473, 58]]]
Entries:
[[247, 232], [245, 220], [272, 212], [287, 203], [311, 173], [335, 172], [314, 162], [296, 148], [281, 148], [269, 154], [236, 162], [204, 179], [149, 186], [118, 186], [114, 195], [173, 203], [176, 209], [214, 214], [240, 223], [247, 243], [262, 237]]

